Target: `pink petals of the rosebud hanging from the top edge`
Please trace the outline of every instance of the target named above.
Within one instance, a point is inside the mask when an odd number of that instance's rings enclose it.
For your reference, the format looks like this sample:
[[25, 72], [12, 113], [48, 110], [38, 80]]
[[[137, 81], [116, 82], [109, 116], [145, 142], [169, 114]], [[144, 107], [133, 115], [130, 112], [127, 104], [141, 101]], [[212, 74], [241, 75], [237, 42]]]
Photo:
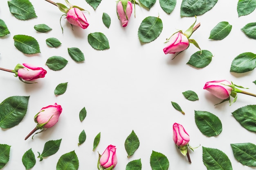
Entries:
[[130, 16], [132, 15], [132, 2], [127, 2], [126, 12], [124, 11], [122, 2], [119, 1], [117, 3], [117, 13], [118, 17], [122, 22], [122, 26], [126, 27], [128, 24], [128, 20], [130, 19]]

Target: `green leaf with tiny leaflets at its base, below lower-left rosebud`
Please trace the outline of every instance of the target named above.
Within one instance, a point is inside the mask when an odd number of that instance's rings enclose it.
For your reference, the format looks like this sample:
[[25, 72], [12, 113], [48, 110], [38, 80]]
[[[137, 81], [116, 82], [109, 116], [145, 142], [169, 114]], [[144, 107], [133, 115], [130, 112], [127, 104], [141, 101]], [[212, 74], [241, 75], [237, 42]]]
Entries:
[[42, 154], [38, 152], [38, 158], [40, 158], [40, 161], [43, 160], [43, 157], [49, 157], [51, 155], [54, 155], [60, 148], [60, 145], [61, 139], [49, 140], [48, 142], [46, 142]]

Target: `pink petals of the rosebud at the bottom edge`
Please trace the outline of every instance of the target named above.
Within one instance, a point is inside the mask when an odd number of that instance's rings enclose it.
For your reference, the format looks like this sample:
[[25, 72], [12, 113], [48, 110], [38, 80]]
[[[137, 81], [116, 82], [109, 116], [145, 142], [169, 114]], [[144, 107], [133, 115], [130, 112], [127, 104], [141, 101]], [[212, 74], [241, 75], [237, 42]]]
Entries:
[[114, 168], [117, 165], [116, 146], [109, 145], [101, 155], [99, 163], [103, 168], [109, 168], [110, 166]]

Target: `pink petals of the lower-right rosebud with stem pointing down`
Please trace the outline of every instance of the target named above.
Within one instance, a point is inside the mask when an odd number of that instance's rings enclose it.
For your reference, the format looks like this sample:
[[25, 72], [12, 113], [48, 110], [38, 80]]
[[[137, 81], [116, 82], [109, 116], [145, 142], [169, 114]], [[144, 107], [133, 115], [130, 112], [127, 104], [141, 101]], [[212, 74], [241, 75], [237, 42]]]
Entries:
[[173, 141], [177, 146], [185, 146], [189, 144], [189, 134], [181, 124], [173, 124]]

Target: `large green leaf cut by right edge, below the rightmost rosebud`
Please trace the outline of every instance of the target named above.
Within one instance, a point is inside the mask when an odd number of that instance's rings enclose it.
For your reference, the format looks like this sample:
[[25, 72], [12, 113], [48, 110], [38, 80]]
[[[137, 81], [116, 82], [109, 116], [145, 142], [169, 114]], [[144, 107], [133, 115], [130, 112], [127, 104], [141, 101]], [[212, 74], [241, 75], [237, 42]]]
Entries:
[[247, 105], [240, 107], [236, 111], [232, 112], [234, 118], [245, 129], [256, 133], [256, 105]]

